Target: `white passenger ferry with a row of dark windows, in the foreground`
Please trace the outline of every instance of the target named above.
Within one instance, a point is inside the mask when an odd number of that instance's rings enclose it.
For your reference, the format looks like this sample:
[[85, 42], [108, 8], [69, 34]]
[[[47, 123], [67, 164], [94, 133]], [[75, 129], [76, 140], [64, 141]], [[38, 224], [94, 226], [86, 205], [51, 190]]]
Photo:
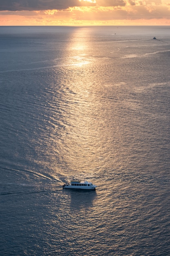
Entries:
[[66, 182], [64, 184], [63, 189], [94, 189], [97, 187], [96, 185], [93, 185], [91, 182], [81, 182], [79, 180], [72, 180], [70, 183]]

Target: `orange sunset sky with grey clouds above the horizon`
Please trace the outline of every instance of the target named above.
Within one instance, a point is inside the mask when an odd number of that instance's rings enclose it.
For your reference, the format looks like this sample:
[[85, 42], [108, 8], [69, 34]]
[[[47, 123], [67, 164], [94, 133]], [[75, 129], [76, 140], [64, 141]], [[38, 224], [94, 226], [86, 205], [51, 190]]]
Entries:
[[170, 0], [0, 0], [0, 26], [170, 25]]

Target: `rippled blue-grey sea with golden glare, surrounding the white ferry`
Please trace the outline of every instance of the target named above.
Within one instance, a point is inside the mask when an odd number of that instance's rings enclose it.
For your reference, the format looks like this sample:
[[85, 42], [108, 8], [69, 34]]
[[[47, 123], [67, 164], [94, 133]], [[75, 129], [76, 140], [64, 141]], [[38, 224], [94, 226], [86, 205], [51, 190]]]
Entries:
[[170, 255], [169, 70], [169, 26], [0, 27], [0, 255]]

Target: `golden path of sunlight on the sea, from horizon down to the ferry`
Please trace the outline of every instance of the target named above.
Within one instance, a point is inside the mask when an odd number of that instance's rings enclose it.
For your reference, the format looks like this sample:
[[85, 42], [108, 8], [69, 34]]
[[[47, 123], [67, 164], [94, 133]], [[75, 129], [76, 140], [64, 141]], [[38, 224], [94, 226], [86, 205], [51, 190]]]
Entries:
[[60, 82], [63, 129], [60, 129], [59, 154], [66, 163], [65, 175], [69, 176], [69, 172], [73, 175], [75, 171], [74, 175], [82, 178], [86, 177], [84, 174], [92, 174], [93, 178], [93, 173], [102, 166], [112, 165], [110, 160], [114, 157], [107, 118], [110, 106], [107, 99], [105, 102], [98, 61], [91, 56], [93, 45], [88, 33], [88, 29], [79, 28], [72, 34]]

